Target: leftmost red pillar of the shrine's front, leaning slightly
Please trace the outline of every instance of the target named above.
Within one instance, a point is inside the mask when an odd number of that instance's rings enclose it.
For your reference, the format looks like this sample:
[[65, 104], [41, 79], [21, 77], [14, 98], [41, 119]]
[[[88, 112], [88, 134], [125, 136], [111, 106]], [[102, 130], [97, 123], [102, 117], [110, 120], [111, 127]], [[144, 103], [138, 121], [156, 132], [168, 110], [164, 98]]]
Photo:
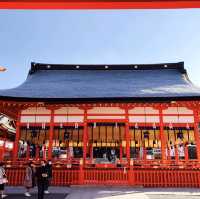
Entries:
[[18, 158], [18, 145], [19, 145], [19, 138], [20, 138], [20, 117], [21, 117], [21, 110], [18, 112], [17, 122], [16, 122], [16, 135], [15, 135], [15, 143], [14, 143], [14, 149], [13, 149], [14, 161], [16, 161]]

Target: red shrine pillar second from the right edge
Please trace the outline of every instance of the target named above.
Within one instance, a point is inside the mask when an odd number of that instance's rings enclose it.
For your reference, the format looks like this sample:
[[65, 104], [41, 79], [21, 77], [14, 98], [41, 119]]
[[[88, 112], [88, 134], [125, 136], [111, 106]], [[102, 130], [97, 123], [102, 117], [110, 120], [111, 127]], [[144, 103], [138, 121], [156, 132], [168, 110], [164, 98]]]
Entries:
[[164, 134], [164, 122], [163, 122], [163, 110], [159, 108], [159, 120], [160, 120], [160, 139], [161, 139], [161, 154], [162, 163], [166, 162], [166, 138]]

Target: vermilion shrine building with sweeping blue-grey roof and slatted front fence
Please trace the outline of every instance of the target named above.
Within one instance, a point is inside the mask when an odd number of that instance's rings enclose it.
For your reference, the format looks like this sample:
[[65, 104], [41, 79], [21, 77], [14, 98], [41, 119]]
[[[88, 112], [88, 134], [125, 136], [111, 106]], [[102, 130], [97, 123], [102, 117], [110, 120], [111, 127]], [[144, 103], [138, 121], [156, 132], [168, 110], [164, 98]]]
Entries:
[[22, 85], [0, 91], [16, 121], [1, 156], [9, 182], [22, 183], [25, 161], [52, 159], [54, 185], [199, 187], [199, 102], [183, 62], [32, 63]]

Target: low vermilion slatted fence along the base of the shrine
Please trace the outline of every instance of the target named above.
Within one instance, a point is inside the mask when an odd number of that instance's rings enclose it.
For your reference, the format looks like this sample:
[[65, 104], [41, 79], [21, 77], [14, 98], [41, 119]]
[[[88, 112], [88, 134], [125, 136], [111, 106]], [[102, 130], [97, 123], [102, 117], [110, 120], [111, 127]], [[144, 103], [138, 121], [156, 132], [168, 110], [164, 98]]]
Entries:
[[[23, 185], [24, 168], [7, 168], [9, 185]], [[200, 187], [199, 169], [97, 169], [53, 170], [54, 186], [132, 185], [144, 187]]]

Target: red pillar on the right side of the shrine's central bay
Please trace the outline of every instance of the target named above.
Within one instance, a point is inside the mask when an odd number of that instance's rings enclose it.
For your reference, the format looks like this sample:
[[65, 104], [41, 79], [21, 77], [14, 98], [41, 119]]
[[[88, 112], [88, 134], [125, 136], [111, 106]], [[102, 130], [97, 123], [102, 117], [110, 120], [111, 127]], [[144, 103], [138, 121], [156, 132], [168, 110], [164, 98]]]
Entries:
[[130, 165], [130, 132], [129, 132], [129, 117], [128, 117], [128, 109], [125, 109], [125, 138], [126, 138], [126, 157], [128, 161], [128, 165]]

